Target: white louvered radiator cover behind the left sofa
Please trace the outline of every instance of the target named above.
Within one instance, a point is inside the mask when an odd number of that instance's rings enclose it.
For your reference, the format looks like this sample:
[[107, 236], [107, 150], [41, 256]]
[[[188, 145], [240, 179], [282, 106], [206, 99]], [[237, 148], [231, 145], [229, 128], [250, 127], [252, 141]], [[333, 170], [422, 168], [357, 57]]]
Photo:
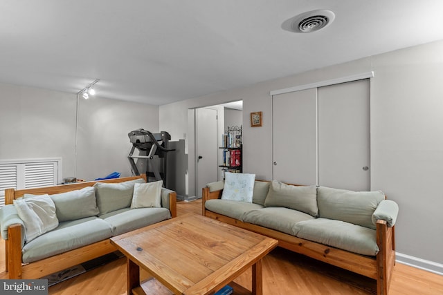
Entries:
[[0, 207], [5, 189], [56, 185], [62, 179], [62, 158], [0, 160]]

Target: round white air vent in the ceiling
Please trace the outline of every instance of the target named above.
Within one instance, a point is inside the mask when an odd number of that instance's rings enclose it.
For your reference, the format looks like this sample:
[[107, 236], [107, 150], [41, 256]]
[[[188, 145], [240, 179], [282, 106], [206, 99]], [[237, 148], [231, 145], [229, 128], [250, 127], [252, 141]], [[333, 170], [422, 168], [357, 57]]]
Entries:
[[282, 29], [290, 32], [315, 32], [329, 26], [334, 19], [334, 12], [330, 10], [312, 10], [287, 19], [282, 23]]

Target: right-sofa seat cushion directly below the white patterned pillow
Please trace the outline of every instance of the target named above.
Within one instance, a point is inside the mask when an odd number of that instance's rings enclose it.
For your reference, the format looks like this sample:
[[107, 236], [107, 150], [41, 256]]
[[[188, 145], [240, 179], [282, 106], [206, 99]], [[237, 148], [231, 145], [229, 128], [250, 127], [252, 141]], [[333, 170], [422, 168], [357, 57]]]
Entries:
[[205, 208], [230, 218], [240, 219], [244, 212], [263, 208], [260, 204], [239, 202], [233, 200], [213, 199], [205, 202]]

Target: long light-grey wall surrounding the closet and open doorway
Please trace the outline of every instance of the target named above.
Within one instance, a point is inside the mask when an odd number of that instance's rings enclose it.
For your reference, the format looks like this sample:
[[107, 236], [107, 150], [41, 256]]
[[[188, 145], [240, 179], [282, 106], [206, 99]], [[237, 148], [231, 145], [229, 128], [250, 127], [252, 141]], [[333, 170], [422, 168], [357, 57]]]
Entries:
[[[161, 129], [190, 133], [188, 108], [243, 100], [244, 172], [272, 179], [269, 91], [374, 70], [371, 80], [371, 189], [400, 207], [396, 246], [401, 254], [443, 264], [443, 41], [397, 50], [160, 107]], [[249, 114], [263, 112], [251, 128]], [[194, 143], [188, 142], [190, 155]], [[190, 160], [189, 171], [194, 162]], [[190, 183], [193, 175], [189, 175]], [[191, 188], [190, 188], [191, 189]], [[197, 188], [201, 189], [201, 188]], [[192, 193], [190, 191], [190, 193]]]

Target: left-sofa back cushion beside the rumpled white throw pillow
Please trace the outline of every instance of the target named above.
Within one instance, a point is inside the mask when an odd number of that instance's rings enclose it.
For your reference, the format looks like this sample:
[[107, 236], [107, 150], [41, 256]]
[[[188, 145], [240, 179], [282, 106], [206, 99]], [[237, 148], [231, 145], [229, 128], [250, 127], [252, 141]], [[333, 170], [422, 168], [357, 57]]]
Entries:
[[[29, 196], [25, 194], [25, 198]], [[96, 189], [84, 187], [66, 193], [56, 193], [49, 196], [55, 204], [55, 213], [59, 222], [86, 218], [98, 215]]]

